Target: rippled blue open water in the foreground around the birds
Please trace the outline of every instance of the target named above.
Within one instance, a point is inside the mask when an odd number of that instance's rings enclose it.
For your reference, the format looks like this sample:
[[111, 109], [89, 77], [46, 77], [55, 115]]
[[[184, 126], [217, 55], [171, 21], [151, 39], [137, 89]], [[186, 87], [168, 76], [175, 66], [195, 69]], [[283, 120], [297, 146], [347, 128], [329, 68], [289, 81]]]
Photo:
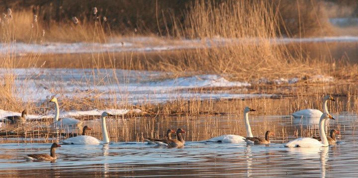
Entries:
[[[39, 174], [49, 177], [356, 177], [358, 137], [355, 130], [358, 116], [335, 116], [336, 120], [330, 122], [330, 128], [340, 128], [341, 138], [337, 145], [328, 148], [284, 148], [282, 138], [273, 138], [274, 143], [270, 145], [254, 146], [187, 141], [185, 147], [171, 149], [141, 142], [114, 142], [106, 145], [63, 145], [56, 150], [58, 159], [55, 162], [26, 162], [24, 155], [49, 153], [51, 144], [4, 143], [0, 145], [0, 177], [36, 177]], [[298, 128], [315, 128], [316, 122], [281, 116], [256, 116], [251, 124], [254, 135], [258, 132], [257, 128], [264, 124], [260, 122], [261, 118], [265, 118], [267, 127], [271, 127], [271, 123], [276, 125], [276, 130], [287, 129], [288, 140], [294, 139], [294, 131]], [[220, 127], [228, 127], [226, 118], [217, 119], [219, 122], [223, 120], [222, 124], [218, 124]], [[178, 120], [173, 120], [168, 124], [178, 123]]]

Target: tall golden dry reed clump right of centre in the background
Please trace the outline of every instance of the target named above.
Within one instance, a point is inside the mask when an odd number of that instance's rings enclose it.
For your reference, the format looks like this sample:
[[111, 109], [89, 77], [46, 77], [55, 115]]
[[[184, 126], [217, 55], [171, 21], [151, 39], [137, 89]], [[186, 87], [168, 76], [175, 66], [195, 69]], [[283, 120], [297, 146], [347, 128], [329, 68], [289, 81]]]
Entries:
[[302, 68], [301, 58], [293, 58], [273, 41], [282, 37], [277, 34], [275, 8], [258, 0], [194, 1], [188, 5], [184, 24], [178, 23], [174, 33], [210, 47], [183, 51], [178, 60], [161, 63], [163, 70], [231, 74], [245, 81], [307, 72], [310, 69]]

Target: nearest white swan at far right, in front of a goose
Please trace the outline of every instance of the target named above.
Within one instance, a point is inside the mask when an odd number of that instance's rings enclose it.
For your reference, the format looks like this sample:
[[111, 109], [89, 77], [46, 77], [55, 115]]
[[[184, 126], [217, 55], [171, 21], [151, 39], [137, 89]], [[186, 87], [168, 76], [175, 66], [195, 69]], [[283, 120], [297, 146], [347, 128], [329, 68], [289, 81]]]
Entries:
[[320, 118], [319, 131], [322, 142], [313, 138], [298, 138], [286, 143], [285, 147], [327, 147], [329, 145], [326, 133], [324, 131], [324, 123], [326, 119], [334, 119], [330, 114], [323, 113]]

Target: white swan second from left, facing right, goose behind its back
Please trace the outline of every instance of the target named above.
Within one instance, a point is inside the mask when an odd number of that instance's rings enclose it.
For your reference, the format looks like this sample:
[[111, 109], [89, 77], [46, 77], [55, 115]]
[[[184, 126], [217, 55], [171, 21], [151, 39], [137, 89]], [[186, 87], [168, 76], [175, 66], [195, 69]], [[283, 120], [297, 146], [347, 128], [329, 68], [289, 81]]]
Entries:
[[63, 144], [69, 144], [69, 145], [96, 145], [96, 144], [105, 144], [109, 143], [109, 137], [107, 133], [107, 127], [105, 123], [105, 117], [112, 116], [112, 114], [109, 114], [108, 112], [104, 111], [101, 115], [101, 121], [102, 121], [102, 134], [103, 134], [103, 141], [99, 141], [98, 139], [88, 136], [88, 135], [80, 135], [77, 137], [72, 137], [66, 140], [61, 141]]

